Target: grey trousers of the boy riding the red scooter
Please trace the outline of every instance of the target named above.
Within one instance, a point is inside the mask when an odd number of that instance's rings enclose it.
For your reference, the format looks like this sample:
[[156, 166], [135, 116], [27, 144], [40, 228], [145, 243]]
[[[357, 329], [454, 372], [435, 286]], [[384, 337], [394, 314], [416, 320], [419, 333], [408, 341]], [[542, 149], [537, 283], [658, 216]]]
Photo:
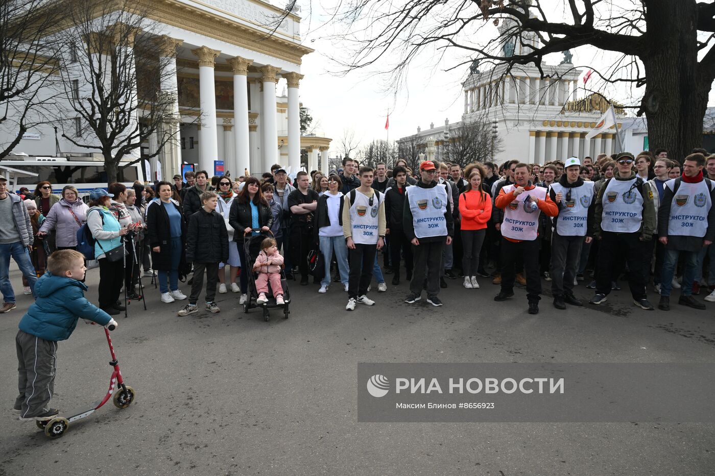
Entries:
[[17, 376], [19, 395], [15, 409], [21, 417], [36, 417], [49, 410], [57, 370], [57, 342], [18, 331]]

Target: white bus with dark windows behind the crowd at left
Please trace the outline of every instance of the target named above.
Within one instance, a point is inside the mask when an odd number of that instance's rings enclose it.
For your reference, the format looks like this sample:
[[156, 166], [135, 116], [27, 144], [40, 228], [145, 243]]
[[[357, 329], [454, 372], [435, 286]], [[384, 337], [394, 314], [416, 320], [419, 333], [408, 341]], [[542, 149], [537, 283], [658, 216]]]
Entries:
[[[52, 184], [53, 194], [61, 195], [65, 185], [74, 185], [79, 196], [84, 198], [96, 188], [107, 188], [107, 172], [104, 172], [104, 162], [88, 157], [82, 159], [9, 155], [0, 160], [0, 174], [8, 179], [8, 189], [14, 193], [21, 187], [34, 192], [36, 184], [46, 180]], [[126, 167], [120, 164], [117, 182], [132, 187], [135, 180], [145, 182], [141, 164]]]

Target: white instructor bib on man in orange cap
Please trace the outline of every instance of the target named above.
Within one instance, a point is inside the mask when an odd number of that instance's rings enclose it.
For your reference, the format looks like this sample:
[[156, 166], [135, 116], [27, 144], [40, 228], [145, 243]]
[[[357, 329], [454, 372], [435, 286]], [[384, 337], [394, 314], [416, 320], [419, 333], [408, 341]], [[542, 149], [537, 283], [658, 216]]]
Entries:
[[443, 185], [436, 185], [431, 189], [422, 187], [409, 187], [405, 189], [412, 223], [415, 228], [415, 237], [441, 237], [447, 234], [447, 190]]

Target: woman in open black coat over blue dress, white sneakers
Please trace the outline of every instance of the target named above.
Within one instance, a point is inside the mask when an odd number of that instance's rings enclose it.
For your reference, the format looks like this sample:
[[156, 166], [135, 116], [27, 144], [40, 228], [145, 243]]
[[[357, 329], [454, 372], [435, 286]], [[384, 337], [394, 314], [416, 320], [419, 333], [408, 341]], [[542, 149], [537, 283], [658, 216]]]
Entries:
[[[162, 302], [186, 299], [179, 291], [179, 269], [185, 269], [186, 223], [181, 208], [172, 201], [172, 185], [157, 184], [158, 199], [147, 206], [147, 239], [152, 249], [152, 265], [159, 274]], [[170, 289], [169, 289], [170, 288]]]

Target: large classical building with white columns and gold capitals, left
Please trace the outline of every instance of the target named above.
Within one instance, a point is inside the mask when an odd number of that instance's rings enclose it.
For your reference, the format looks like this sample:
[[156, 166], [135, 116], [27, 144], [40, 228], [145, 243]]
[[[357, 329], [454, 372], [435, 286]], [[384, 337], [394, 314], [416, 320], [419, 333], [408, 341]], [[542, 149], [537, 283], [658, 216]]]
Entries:
[[[162, 90], [177, 98], [175, 111], [182, 123], [178, 139], [152, 161], [153, 172], [171, 177], [179, 164], [191, 163], [212, 174], [220, 160], [234, 177], [245, 170], [260, 174], [275, 163], [295, 173], [302, 149], [308, 152], [309, 169], [317, 166], [318, 152], [327, 157], [330, 139], [300, 135], [300, 64], [313, 51], [301, 44], [300, 9], [287, 13], [262, 0], [147, 5], [157, 51], [169, 59], [164, 67], [173, 71], [167, 84], [162, 81]], [[281, 16], [271, 34], [273, 26], [266, 25]], [[281, 86], [285, 93], [279, 96]], [[63, 154], [88, 152], [61, 137], [58, 142]], [[29, 131], [14, 152], [51, 156], [55, 149], [49, 124]], [[156, 138], [142, 144], [144, 152], [155, 150]]]

